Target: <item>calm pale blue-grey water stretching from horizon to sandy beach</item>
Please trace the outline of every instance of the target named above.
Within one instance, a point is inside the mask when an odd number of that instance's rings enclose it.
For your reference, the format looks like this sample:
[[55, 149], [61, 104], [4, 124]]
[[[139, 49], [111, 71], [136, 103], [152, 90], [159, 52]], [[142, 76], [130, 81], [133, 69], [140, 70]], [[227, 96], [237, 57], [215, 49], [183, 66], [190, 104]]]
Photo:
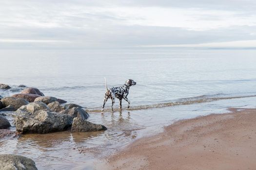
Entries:
[[[0, 90], [1, 96], [19, 93], [20, 84], [35, 86], [45, 95], [86, 106], [89, 121], [108, 127], [105, 132], [4, 138], [0, 153], [30, 157], [40, 170], [94, 169], [98, 158], [178, 119], [256, 107], [255, 55], [247, 50], [0, 51], [0, 83], [12, 86]], [[130, 109], [123, 102], [118, 111], [116, 101], [112, 113], [108, 101], [105, 113], [99, 113], [104, 77], [109, 87], [128, 78], [137, 82], [130, 88]]]

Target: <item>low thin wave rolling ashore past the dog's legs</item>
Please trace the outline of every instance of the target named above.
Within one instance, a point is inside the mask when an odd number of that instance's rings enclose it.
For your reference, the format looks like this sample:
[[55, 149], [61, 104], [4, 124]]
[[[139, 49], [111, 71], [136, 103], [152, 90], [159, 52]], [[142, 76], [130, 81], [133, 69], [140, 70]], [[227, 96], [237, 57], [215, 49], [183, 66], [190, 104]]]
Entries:
[[[157, 104], [147, 104], [147, 105], [138, 105], [138, 106], [131, 106], [129, 109], [126, 110], [142, 110], [142, 109], [152, 109], [152, 108], [162, 108], [162, 107], [170, 107], [176, 105], [188, 105], [188, 104], [195, 104], [201, 102], [213, 102], [219, 100], [227, 100], [227, 99], [238, 99], [238, 98], [249, 98], [249, 97], [256, 97], [256, 95], [248, 95], [248, 96], [232, 96], [232, 97], [225, 97], [225, 94], [219, 93], [216, 95], [202, 95], [190, 98], [182, 98], [176, 102], [164, 102], [164, 103], [157, 103]], [[111, 111], [111, 109], [104, 109], [105, 111]], [[100, 112], [101, 108], [88, 108], [88, 112]]]

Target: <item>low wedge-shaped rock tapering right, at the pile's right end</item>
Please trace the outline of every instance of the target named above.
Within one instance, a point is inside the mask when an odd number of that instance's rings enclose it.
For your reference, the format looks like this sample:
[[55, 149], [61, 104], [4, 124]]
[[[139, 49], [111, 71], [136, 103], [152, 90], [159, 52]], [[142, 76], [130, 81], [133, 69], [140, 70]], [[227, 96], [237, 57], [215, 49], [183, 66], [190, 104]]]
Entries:
[[103, 131], [107, 128], [101, 124], [94, 124], [81, 118], [74, 118], [71, 132]]

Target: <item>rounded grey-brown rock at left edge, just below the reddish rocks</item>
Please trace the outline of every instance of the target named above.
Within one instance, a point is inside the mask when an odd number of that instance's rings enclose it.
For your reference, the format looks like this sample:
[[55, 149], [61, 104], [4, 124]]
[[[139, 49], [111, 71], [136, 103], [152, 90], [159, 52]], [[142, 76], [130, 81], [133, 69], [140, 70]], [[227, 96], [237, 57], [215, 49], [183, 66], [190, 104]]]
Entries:
[[15, 97], [5, 97], [1, 99], [1, 102], [4, 107], [11, 105], [15, 108], [15, 110], [19, 109], [22, 105], [26, 105], [29, 102], [25, 99], [15, 98]]

